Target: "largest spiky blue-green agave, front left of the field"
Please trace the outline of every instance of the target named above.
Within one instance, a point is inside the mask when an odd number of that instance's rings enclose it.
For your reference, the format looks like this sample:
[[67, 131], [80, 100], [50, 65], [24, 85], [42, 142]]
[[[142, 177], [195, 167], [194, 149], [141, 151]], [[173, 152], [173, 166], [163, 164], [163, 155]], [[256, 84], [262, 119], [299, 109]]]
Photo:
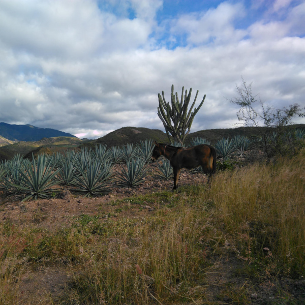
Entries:
[[52, 158], [47, 155], [39, 155], [37, 160], [33, 156], [31, 163], [22, 161], [22, 166], [16, 168], [18, 178], [11, 176], [11, 181], [8, 182], [10, 187], [15, 188], [12, 194], [25, 196], [22, 201], [29, 198], [49, 198], [56, 191], [51, 187], [57, 184], [54, 177], [60, 170], [54, 170], [54, 166]]

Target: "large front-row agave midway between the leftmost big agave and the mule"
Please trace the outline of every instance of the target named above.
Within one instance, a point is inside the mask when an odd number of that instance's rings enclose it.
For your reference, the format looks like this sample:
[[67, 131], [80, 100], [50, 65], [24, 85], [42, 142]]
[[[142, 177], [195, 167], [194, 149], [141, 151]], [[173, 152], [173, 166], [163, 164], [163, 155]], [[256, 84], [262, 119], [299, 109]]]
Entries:
[[71, 191], [81, 193], [83, 197], [99, 196], [109, 192], [106, 184], [112, 176], [111, 162], [101, 163], [98, 159], [90, 159], [84, 169], [79, 164], [77, 169], [80, 174], [75, 176], [75, 188]]

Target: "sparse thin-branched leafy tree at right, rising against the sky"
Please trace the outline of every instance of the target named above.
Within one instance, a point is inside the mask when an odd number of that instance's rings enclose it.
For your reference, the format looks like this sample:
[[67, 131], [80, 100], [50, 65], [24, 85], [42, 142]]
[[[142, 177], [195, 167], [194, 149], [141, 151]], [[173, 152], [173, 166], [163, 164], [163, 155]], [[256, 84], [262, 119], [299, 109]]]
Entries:
[[[252, 82], [247, 84], [242, 78], [241, 86], [236, 85], [237, 97], [229, 100], [240, 108], [237, 112], [237, 118], [244, 126], [263, 127], [260, 132], [260, 146], [265, 151], [268, 158], [274, 155], [286, 155], [287, 153], [296, 153], [302, 146], [302, 141], [296, 141], [293, 136], [295, 131], [289, 130], [292, 124], [292, 118], [295, 116], [304, 116], [302, 108], [298, 104], [292, 104], [282, 109], [274, 109], [264, 104], [259, 95], [252, 94]], [[260, 105], [257, 110], [256, 105]]]

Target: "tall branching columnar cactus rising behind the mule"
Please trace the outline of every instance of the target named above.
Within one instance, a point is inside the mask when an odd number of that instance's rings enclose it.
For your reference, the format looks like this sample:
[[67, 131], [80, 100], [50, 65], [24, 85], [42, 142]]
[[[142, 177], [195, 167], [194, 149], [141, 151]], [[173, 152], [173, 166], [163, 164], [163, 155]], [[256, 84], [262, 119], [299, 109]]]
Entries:
[[[179, 102], [178, 94], [174, 94], [174, 85], [171, 87], [171, 105], [165, 101], [164, 92], [162, 91], [161, 94], [158, 94], [159, 98], [159, 107], [158, 107], [158, 116], [160, 117], [166, 134], [172, 142], [172, 138], [174, 141], [179, 142], [181, 145], [183, 144], [186, 136], [189, 134], [194, 116], [202, 106], [205, 95], [199, 105], [198, 108], [195, 108], [192, 112], [197, 96], [198, 96], [198, 90], [196, 93], [195, 100], [190, 108], [189, 103], [191, 100], [191, 94], [192, 94], [192, 88], [190, 88], [190, 92], [188, 94], [188, 90], [186, 90], [184, 95], [184, 87], [182, 87], [181, 92], [181, 99]], [[172, 138], [171, 138], [172, 136]]]

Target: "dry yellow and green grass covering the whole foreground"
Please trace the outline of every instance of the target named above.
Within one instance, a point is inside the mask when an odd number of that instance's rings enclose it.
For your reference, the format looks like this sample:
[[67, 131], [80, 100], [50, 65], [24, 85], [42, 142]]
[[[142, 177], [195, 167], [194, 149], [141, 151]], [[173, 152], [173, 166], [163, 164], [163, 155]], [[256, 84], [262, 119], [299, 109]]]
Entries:
[[[303, 304], [304, 172], [301, 151], [219, 171], [210, 187], [114, 197], [59, 227], [6, 220], [0, 303]], [[60, 293], [23, 295], [26, 272], [55, 266], [69, 275]]]

